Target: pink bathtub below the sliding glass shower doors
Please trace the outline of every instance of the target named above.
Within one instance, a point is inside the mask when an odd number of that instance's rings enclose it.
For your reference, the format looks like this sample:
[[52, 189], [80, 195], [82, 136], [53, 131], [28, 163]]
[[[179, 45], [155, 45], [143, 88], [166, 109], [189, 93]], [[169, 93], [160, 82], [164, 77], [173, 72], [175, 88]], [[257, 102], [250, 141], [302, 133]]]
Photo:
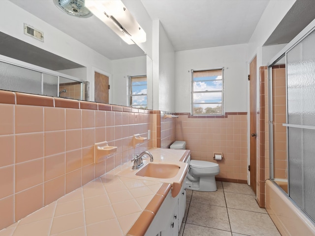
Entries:
[[266, 180], [266, 210], [282, 236], [315, 236], [314, 223], [271, 180]]

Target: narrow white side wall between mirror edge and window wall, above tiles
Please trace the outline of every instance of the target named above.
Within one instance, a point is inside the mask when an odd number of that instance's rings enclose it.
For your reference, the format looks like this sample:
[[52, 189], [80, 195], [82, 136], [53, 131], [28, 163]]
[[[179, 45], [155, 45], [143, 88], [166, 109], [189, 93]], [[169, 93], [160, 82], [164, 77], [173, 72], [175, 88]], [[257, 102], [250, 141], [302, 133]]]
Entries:
[[161, 111], [175, 112], [175, 52], [159, 24], [159, 105]]

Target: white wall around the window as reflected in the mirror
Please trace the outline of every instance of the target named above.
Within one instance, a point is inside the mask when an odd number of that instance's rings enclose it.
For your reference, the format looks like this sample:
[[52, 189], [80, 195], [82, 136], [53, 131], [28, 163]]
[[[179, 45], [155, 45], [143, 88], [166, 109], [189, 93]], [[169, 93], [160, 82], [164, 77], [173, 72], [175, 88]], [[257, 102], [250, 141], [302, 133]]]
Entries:
[[111, 103], [128, 106], [128, 76], [147, 74], [147, 57], [112, 60]]

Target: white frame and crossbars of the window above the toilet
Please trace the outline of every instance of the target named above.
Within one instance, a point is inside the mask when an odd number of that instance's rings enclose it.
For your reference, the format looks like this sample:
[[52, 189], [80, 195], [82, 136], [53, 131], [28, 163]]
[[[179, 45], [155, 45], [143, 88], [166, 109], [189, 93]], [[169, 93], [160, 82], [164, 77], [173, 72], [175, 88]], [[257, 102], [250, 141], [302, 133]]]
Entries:
[[[213, 70], [221, 70], [222, 71], [222, 90], [210, 90], [210, 91], [193, 91], [193, 73], [194, 72], [201, 72], [201, 71], [213, 71]], [[194, 113], [194, 104], [201, 104], [201, 103], [196, 103], [193, 101], [193, 94], [194, 93], [204, 93], [204, 92], [221, 92], [221, 114], [206, 114], [206, 113], [202, 113], [202, 114], [198, 114], [198, 113]], [[219, 104], [219, 103], [204, 103], [204, 104]], [[204, 70], [191, 70], [191, 115], [192, 116], [223, 116], [224, 115], [224, 67], [220, 67], [220, 68], [215, 68], [215, 69], [204, 69]]]

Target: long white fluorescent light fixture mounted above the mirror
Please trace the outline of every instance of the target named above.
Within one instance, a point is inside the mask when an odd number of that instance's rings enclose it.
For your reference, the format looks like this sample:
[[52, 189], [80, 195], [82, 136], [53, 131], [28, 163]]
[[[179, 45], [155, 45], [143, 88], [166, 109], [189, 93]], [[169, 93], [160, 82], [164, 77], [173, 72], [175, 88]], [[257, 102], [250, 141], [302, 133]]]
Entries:
[[147, 40], [146, 32], [121, 0], [85, 0], [85, 7], [127, 44], [143, 43]]

